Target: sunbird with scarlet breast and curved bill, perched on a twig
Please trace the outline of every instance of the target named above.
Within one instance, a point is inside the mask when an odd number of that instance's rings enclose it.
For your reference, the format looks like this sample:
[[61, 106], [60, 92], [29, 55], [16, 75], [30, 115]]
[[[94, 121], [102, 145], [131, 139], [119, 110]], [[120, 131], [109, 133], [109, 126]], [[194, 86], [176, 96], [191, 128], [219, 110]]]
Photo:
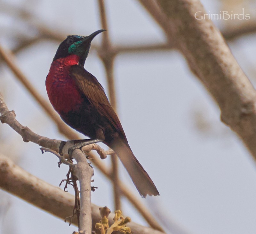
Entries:
[[142, 197], [158, 196], [154, 182], [134, 156], [104, 88], [84, 69], [92, 39], [104, 31], [69, 35], [60, 43], [45, 80], [47, 95], [66, 124], [115, 151]]

